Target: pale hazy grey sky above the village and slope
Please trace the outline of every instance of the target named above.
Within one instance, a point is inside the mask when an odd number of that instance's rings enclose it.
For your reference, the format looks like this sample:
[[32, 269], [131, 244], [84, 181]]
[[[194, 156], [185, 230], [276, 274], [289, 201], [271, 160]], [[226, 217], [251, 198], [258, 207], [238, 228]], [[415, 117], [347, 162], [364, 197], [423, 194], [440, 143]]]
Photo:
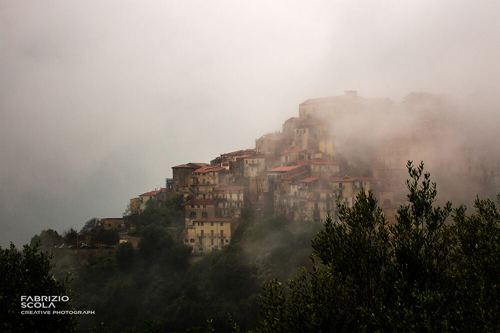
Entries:
[[0, 244], [120, 217], [308, 98], [500, 89], [500, 1], [0, 0]]

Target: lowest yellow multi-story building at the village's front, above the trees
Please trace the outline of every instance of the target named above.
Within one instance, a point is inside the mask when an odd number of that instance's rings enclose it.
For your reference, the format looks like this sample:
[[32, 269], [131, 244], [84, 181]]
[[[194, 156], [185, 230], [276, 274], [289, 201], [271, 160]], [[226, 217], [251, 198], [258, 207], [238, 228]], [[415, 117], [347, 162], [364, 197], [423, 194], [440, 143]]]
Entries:
[[199, 218], [184, 228], [184, 244], [192, 247], [193, 254], [208, 254], [223, 249], [231, 242], [238, 226], [237, 218]]

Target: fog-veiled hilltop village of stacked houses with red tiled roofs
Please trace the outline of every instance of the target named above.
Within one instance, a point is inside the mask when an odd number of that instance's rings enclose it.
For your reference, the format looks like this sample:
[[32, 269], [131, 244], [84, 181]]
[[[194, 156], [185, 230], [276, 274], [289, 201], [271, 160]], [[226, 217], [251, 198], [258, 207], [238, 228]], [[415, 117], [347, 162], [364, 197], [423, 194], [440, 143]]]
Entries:
[[[164, 188], [131, 199], [130, 207], [140, 210], [148, 200], [181, 196], [181, 241], [193, 254], [224, 248], [245, 217], [323, 223], [329, 214], [336, 220], [337, 200], [352, 207], [361, 190], [374, 193], [390, 223], [406, 200], [407, 159], [415, 150], [442, 146], [456, 130], [445, 126], [449, 107], [443, 96], [428, 93], [411, 93], [398, 103], [356, 91], [308, 99], [299, 104], [298, 117], [256, 139], [255, 147], [220, 154], [209, 163], [172, 166]], [[498, 179], [498, 161], [481, 164], [474, 149], [460, 148], [467, 160], [459, 174], [472, 177], [471, 170], [482, 168], [480, 175]], [[125, 228], [123, 219], [102, 221], [106, 229]]]

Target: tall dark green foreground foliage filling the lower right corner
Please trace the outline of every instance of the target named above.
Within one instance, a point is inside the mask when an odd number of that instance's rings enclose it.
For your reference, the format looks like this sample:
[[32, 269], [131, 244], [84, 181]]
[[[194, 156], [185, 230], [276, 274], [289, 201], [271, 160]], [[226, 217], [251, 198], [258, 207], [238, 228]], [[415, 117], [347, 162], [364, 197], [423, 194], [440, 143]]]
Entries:
[[340, 222], [328, 218], [312, 242], [312, 269], [286, 288], [263, 285], [258, 331], [498, 332], [498, 209], [477, 200], [477, 214], [459, 208], [448, 228], [451, 204], [434, 207], [423, 163], [408, 162], [408, 172], [408, 204], [394, 225], [369, 192], [352, 209], [338, 203]]

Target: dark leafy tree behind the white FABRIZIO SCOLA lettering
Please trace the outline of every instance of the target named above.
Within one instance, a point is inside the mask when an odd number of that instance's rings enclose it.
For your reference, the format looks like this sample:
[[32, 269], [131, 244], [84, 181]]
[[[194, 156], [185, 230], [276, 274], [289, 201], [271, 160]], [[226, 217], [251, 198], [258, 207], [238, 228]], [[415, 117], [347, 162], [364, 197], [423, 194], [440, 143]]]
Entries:
[[[69, 278], [57, 281], [50, 270], [51, 257], [38, 252], [38, 245], [24, 245], [22, 253], [10, 243], [10, 249], [0, 246], [0, 313], [2, 332], [76, 332], [78, 315], [25, 315], [21, 313], [21, 297], [67, 296], [67, 302], [54, 302], [51, 311], [81, 310], [73, 307], [74, 293]], [[47, 310], [47, 309], [24, 309]]]

